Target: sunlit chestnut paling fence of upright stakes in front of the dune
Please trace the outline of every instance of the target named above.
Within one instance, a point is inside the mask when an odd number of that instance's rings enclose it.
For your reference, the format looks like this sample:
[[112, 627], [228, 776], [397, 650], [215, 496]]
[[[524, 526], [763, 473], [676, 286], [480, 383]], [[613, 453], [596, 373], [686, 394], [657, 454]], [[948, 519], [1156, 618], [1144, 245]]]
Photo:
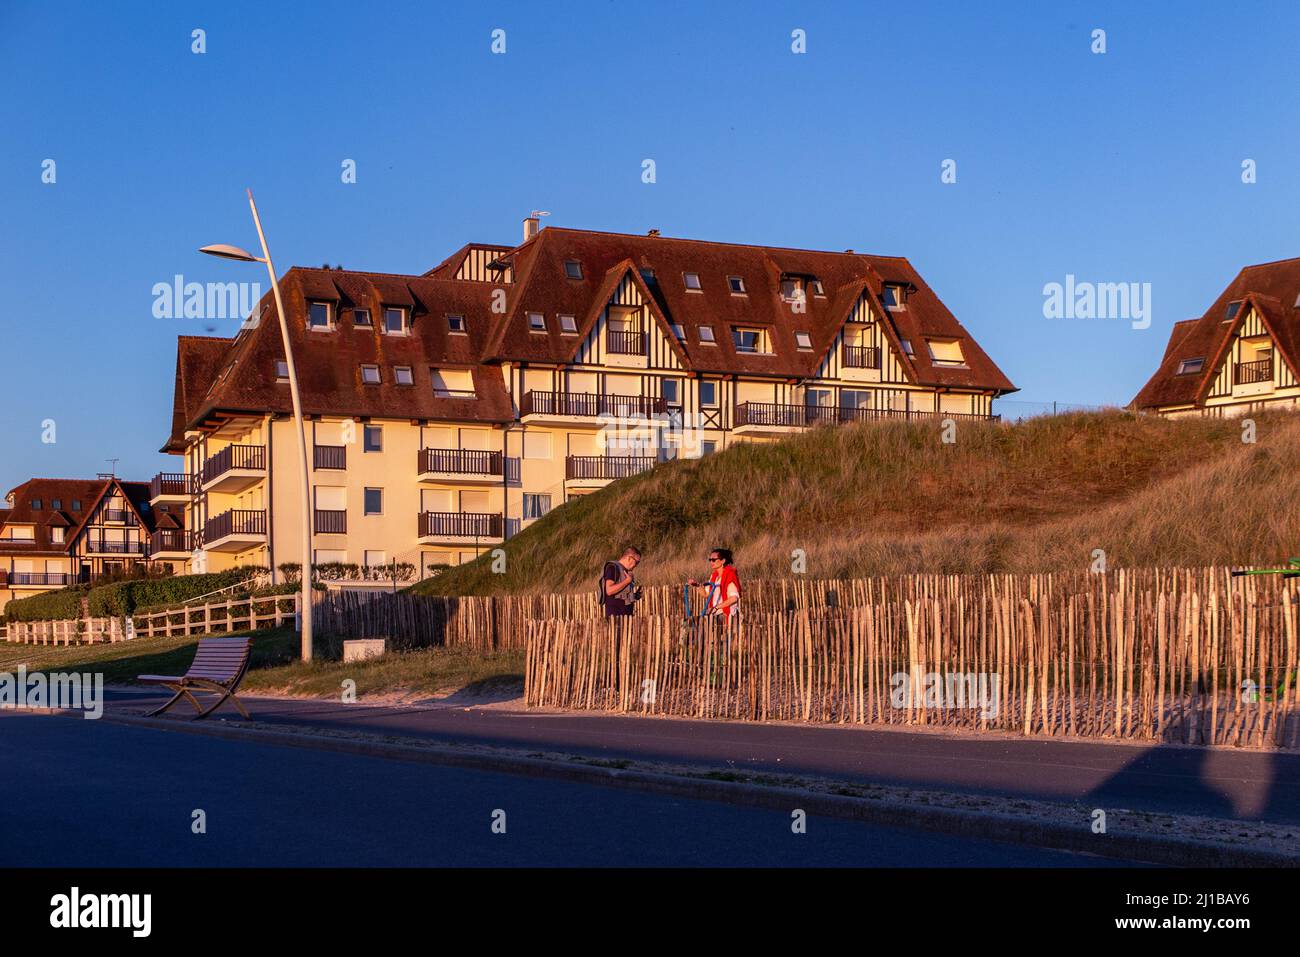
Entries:
[[1297, 602], [1280, 579], [810, 583], [784, 590], [794, 611], [771, 610], [776, 584], [729, 631], [680, 615], [529, 622], [526, 703], [1296, 746]]

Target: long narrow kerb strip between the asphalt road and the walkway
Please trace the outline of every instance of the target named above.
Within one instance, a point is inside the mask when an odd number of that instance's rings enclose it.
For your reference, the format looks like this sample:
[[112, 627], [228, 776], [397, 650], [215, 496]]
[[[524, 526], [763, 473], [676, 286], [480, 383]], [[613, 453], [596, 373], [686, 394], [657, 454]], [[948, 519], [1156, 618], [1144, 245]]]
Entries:
[[[77, 714], [77, 713], [65, 713]], [[261, 744], [308, 750], [356, 754], [363, 757], [439, 765], [474, 771], [494, 771], [529, 778], [614, 788], [647, 791], [656, 794], [684, 797], [748, 807], [772, 810], [802, 809], [810, 815], [861, 820], [868, 824], [932, 831], [958, 837], [994, 840], [1035, 848], [1071, 850], [1098, 857], [1123, 858], [1174, 867], [1296, 867], [1300, 858], [1273, 850], [1253, 850], [1204, 841], [1182, 840], [1164, 835], [1115, 833], [1095, 835], [1087, 826], [1067, 827], [1050, 822], [1026, 820], [998, 814], [983, 814], [952, 807], [900, 805], [848, 794], [823, 794], [796, 788], [777, 788], [742, 781], [718, 781], [685, 778], [655, 771], [637, 771], [598, 765], [568, 763], [516, 754], [463, 752], [452, 748], [407, 746], [358, 739], [333, 739], [278, 731], [239, 729], [192, 722], [159, 722], [134, 715], [108, 715], [103, 720], [153, 731], [177, 731], [228, 741], [260, 741]], [[1100, 837], [1100, 840], [1098, 840]]]

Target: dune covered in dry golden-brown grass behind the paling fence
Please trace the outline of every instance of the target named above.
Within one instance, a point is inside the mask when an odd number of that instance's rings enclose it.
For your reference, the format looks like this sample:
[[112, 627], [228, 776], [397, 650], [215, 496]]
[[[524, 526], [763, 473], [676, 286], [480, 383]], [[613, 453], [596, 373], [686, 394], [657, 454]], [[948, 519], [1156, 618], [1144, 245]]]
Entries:
[[421, 583], [434, 594], [594, 588], [624, 542], [646, 584], [703, 571], [731, 546], [749, 577], [1269, 564], [1300, 554], [1300, 416], [1169, 421], [1127, 412], [1015, 425], [863, 423], [675, 462], [555, 508], [488, 560]]

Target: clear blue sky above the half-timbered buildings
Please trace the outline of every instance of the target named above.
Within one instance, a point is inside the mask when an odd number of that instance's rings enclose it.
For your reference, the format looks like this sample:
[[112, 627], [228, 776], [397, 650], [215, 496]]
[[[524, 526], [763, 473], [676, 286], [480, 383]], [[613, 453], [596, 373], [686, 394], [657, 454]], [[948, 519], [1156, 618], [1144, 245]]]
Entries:
[[[1295, 4], [807, 7], [6, 0], [0, 488], [176, 465], [176, 337], [235, 324], [152, 287], [265, 282], [195, 251], [256, 246], [244, 187], [281, 272], [421, 272], [532, 208], [905, 255], [1028, 403], [1127, 402], [1173, 322], [1300, 255]], [[1045, 319], [1067, 274], [1149, 282], [1150, 328]]]

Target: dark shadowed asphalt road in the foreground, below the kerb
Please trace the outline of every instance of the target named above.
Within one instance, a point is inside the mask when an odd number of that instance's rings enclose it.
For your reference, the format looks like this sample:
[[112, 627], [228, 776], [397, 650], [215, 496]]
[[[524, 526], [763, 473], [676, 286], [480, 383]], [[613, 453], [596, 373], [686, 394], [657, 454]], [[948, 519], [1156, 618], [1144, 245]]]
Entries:
[[1121, 863], [56, 715], [0, 715], [0, 867]]

